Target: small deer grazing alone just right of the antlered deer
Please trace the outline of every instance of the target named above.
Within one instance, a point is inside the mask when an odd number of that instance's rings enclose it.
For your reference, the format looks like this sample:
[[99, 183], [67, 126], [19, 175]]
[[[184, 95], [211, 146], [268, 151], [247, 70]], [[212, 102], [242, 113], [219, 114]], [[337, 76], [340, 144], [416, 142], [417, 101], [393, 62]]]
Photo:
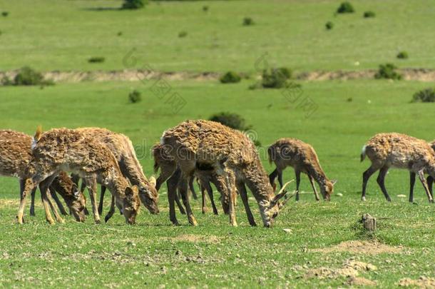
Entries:
[[296, 176], [296, 201], [299, 201], [300, 174], [305, 173], [308, 176], [314, 191], [314, 198], [319, 201], [314, 181], [320, 187], [320, 193], [325, 201], [329, 201], [334, 191], [334, 184], [337, 181], [330, 181], [324, 173], [319, 163], [314, 148], [297, 138], [280, 138], [273, 143], [268, 149], [269, 163], [275, 163], [275, 171], [270, 173], [269, 180], [272, 186], [275, 186], [275, 178], [278, 177], [282, 187], [282, 171], [291, 166], [295, 170]]

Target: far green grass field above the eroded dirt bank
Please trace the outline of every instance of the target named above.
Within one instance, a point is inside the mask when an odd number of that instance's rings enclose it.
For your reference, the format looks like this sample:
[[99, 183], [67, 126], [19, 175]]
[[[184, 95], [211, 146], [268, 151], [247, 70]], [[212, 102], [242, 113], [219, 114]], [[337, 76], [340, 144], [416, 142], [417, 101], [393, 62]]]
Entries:
[[[0, 0], [9, 11], [0, 17], [0, 69], [254, 72], [266, 53], [270, 66], [303, 71], [434, 67], [434, 0], [355, 0], [356, 13], [334, 16], [339, 2], [151, 1], [119, 11], [121, 1]], [[368, 10], [376, 17], [364, 19]], [[243, 26], [245, 17], [255, 25]], [[123, 61], [131, 49], [135, 61]], [[397, 60], [399, 51], [409, 59]], [[106, 61], [89, 64], [96, 56]]]

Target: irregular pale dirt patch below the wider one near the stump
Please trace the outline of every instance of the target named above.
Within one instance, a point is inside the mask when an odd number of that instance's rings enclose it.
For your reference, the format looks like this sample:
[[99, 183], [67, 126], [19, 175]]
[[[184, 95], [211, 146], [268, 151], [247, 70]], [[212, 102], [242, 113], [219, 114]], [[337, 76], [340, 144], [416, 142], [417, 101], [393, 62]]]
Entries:
[[360, 272], [377, 270], [375, 265], [357, 260], [347, 260], [342, 268], [315, 268], [307, 270], [305, 278], [336, 279], [340, 277], [354, 278]]

